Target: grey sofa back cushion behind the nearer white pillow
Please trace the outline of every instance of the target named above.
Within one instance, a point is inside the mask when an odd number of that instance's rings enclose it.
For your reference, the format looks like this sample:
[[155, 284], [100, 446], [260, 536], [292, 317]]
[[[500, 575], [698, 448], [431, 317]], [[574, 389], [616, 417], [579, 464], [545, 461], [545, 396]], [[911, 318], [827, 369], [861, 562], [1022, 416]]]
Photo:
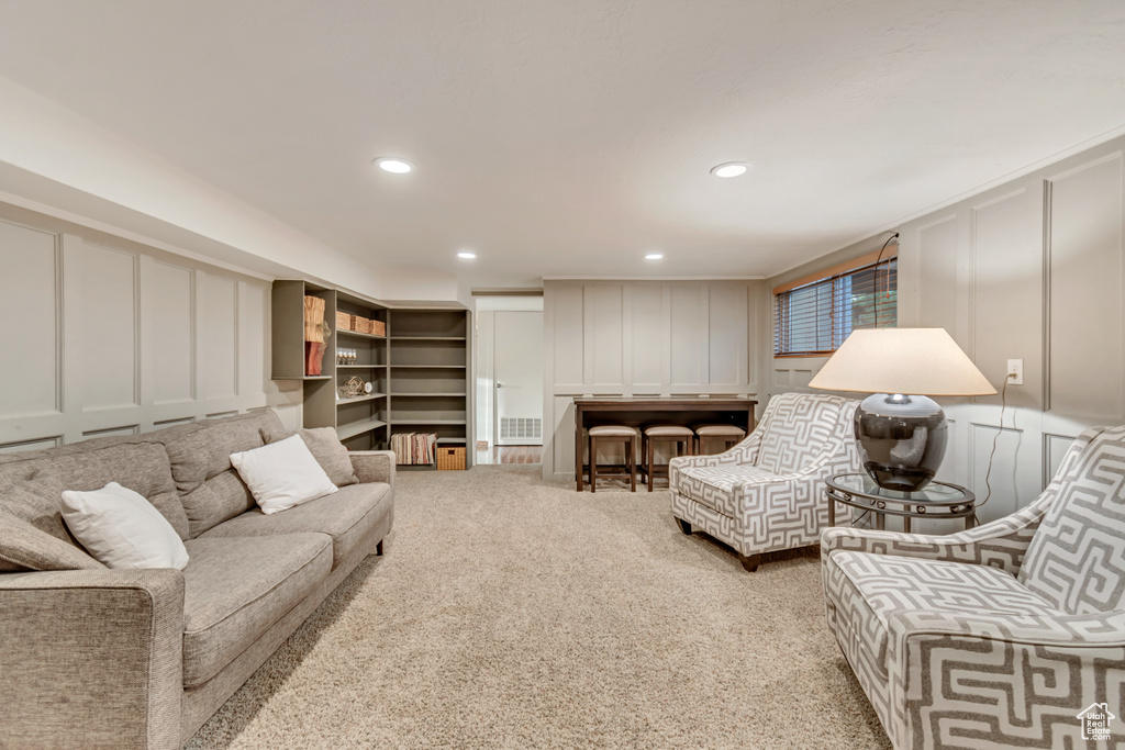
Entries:
[[40, 471], [56, 478], [63, 489], [89, 491], [116, 481], [148, 500], [180, 539], [188, 537], [188, 516], [172, 481], [168, 453], [146, 436], [94, 439], [0, 455], [0, 486], [32, 480]]

